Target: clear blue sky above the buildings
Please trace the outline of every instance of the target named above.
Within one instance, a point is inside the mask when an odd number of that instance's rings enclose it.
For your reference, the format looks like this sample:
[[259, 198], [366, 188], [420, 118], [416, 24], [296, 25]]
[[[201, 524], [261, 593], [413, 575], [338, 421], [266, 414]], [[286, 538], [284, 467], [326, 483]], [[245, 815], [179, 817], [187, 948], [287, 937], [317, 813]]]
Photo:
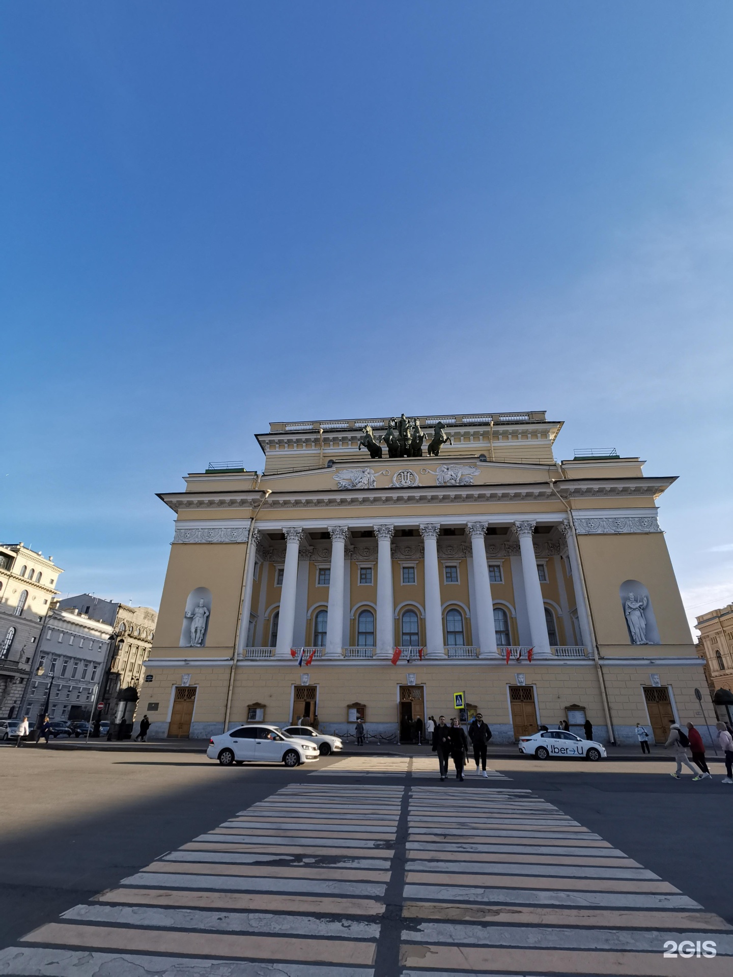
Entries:
[[270, 421], [544, 409], [733, 600], [727, 0], [6, 0], [0, 538], [157, 607]]

